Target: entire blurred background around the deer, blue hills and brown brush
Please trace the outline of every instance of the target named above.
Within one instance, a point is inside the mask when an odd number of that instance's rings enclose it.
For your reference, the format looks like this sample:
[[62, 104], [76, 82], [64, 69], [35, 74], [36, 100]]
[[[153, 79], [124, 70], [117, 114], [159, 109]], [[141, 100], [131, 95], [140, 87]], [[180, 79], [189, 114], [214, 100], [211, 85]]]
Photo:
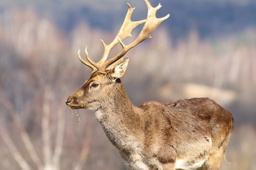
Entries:
[[[146, 17], [142, 0], [1, 0], [0, 169], [126, 169], [94, 112], [79, 110], [79, 123], [65, 106], [91, 73], [78, 49], [98, 61], [126, 2], [134, 20]], [[221, 169], [256, 169], [256, 1], [159, 2], [157, 16], [171, 17], [126, 55], [130, 100], [213, 98], [235, 118]]]

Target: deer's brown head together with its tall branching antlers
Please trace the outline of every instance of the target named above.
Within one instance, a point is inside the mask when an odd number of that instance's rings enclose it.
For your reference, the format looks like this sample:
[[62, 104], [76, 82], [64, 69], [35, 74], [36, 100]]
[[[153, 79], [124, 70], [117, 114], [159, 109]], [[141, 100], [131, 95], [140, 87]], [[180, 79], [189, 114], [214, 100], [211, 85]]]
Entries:
[[[77, 91], [75, 91], [70, 97], [68, 97], [65, 103], [70, 106], [70, 108], [87, 108], [97, 110], [100, 108], [101, 103], [107, 100], [107, 94], [109, 91], [113, 91], [114, 84], [120, 82], [119, 78], [123, 76], [125, 70], [127, 69], [128, 59], [123, 60], [123, 56], [134, 46], [138, 45], [143, 40], [151, 38], [151, 33], [159, 26], [159, 24], [169, 18], [169, 14], [163, 18], [156, 18], [156, 11], [161, 8], [161, 4], [156, 7], [152, 7], [149, 1], [144, 0], [148, 8], [148, 13], [146, 19], [142, 21], [132, 21], [132, 8], [129, 4], [127, 15], [124, 18], [124, 23], [117, 33], [114, 40], [107, 45], [103, 40], [102, 44], [105, 48], [104, 54], [100, 62], [93, 62], [87, 52], [87, 47], [85, 48], [85, 57], [87, 61], [83, 60], [80, 56], [80, 50], [78, 50], [79, 60], [85, 64], [87, 67], [92, 69], [92, 75], [90, 79], [85, 81]], [[122, 40], [127, 37], [132, 36], [132, 30], [144, 23], [144, 27], [137, 36], [137, 38], [131, 42], [129, 45], [125, 45]], [[122, 45], [122, 51], [118, 55], [107, 60], [110, 50], [117, 44]]]

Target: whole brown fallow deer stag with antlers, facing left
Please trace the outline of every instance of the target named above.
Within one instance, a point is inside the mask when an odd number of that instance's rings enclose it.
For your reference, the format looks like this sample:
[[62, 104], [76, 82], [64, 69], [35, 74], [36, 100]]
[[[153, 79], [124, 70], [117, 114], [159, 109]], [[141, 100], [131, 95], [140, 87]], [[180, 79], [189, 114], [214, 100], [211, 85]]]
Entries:
[[[112, 145], [119, 152], [129, 169], [219, 169], [225, 148], [233, 129], [233, 116], [208, 98], [191, 98], [170, 103], [146, 102], [133, 106], [120, 81], [127, 69], [128, 59], [123, 56], [132, 47], [151, 38], [159, 24], [169, 18], [156, 18], [161, 4], [148, 8], [147, 17], [132, 21], [134, 8], [128, 4], [127, 15], [116, 38], [107, 45], [99, 62], [93, 62], [85, 48], [92, 75], [85, 84], [68, 97], [65, 103], [73, 109], [95, 110]], [[122, 40], [134, 28], [144, 23], [137, 38], [129, 45]], [[107, 60], [117, 44], [122, 45], [118, 55]]]

